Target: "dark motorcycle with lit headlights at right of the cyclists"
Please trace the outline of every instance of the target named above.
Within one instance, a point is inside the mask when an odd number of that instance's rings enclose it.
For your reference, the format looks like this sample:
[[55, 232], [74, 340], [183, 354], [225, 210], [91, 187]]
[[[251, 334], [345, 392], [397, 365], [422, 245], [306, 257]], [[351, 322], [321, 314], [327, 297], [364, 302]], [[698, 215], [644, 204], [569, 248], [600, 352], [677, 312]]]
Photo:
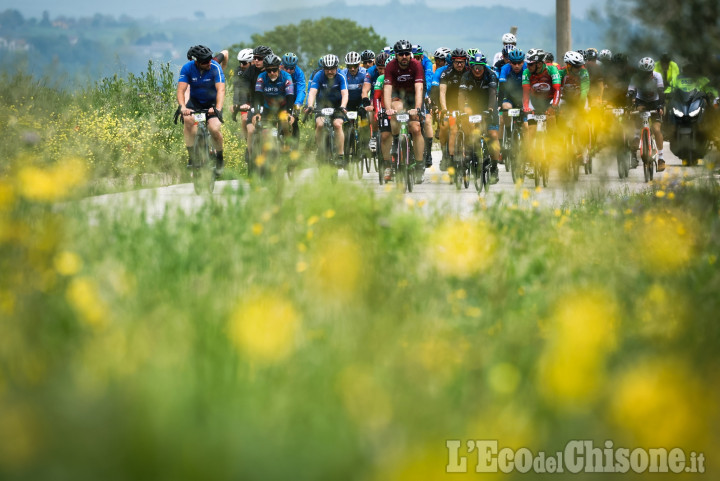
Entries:
[[709, 138], [703, 119], [708, 107], [706, 95], [697, 90], [677, 89], [670, 97], [670, 121], [673, 131], [668, 139], [670, 151], [687, 165], [697, 165], [709, 148]]

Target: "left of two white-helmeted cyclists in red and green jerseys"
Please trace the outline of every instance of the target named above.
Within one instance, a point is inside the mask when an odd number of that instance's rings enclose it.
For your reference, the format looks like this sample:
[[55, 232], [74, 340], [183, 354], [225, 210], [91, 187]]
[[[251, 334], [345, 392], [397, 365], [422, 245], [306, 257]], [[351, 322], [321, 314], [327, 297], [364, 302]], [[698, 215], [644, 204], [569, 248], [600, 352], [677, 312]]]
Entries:
[[[545, 65], [545, 52], [531, 48], [526, 56], [527, 67], [523, 70], [523, 111], [544, 113], [548, 127], [554, 125], [554, 109], [560, 101], [560, 73], [552, 65]], [[528, 121], [527, 144], [532, 145], [537, 124]], [[532, 162], [526, 164], [528, 168]]]

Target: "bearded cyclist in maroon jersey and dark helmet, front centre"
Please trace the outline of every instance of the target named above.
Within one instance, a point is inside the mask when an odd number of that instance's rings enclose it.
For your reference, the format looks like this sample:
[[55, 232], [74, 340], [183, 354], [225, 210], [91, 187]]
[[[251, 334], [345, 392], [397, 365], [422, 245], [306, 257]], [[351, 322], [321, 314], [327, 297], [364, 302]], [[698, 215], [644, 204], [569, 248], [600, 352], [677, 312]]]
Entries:
[[[393, 50], [396, 57], [385, 65], [383, 84], [383, 103], [385, 113], [391, 117], [390, 128], [393, 134], [391, 154], [394, 156], [397, 153], [397, 140], [400, 134], [400, 125], [393, 115], [404, 110], [410, 114], [408, 129], [413, 139], [415, 159], [420, 160], [425, 151], [425, 140], [420, 128], [425, 71], [422, 64], [412, 58], [412, 44], [407, 40], [395, 42]], [[393, 168], [395, 160], [392, 161]]]

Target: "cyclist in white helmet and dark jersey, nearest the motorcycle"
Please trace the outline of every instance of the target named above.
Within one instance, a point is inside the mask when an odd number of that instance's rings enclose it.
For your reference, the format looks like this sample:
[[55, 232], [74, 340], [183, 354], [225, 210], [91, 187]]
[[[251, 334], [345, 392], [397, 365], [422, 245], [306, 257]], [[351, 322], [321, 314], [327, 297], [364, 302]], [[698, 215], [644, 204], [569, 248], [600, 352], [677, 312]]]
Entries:
[[[658, 149], [657, 171], [665, 170], [663, 158], [662, 115], [665, 104], [665, 85], [662, 75], [655, 71], [655, 61], [650, 57], [643, 57], [637, 64], [637, 72], [630, 79], [628, 85], [628, 98], [633, 100], [639, 111], [657, 110], [651, 116], [651, 130], [655, 135]], [[639, 130], [635, 132], [635, 145], [640, 145]], [[633, 150], [637, 150], [637, 147]], [[637, 165], [637, 156], [633, 155], [633, 166]]]

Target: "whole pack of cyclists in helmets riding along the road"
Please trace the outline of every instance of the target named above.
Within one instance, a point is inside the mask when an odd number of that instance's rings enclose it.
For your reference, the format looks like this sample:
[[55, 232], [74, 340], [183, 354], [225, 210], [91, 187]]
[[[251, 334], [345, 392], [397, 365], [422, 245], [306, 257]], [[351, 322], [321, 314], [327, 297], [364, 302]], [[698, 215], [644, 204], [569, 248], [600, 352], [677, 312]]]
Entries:
[[[503, 47], [492, 63], [478, 49], [440, 47], [433, 60], [419, 45], [399, 40], [377, 55], [371, 50], [348, 52], [345, 68], [334, 54], [321, 57], [317, 69], [306, 77], [292, 52], [282, 57], [267, 46], [243, 49], [238, 53], [234, 74], [233, 118], [240, 115], [248, 149], [246, 161], [252, 171], [252, 137], [261, 119], [280, 119], [288, 138], [298, 139], [298, 118], [315, 113], [316, 144], [323, 135], [324, 116], [319, 110], [331, 107], [335, 132], [335, 159], [345, 159], [347, 112], [357, 111], [361, 122], [360, 145], [370, 140], [370, 129], [379, 132], [379, 155], [389, 161], [386, 180], [394, 174], [399, 124], [396, 114], [410, 115], [408, 132], [412, 137], [414, 156], [422, 169], [432, 165], [430, 156], [434, 139], [443, 150], [440, 169], [454, 164], [454, 144], [462, 129], [473, 145], [484, 136], [491, 159], [491, 182], [498, 180], [497, 164], [501, 158], [500, 141], [509, 109], [522, 109], [523, 131], [528, 143], [535, 135], [530, 113], [545, 114], [548, 128], [558, 125], [582, 130], [586, 128], [589, 109], [604, 105], [653, 111], [652, 131], [658, 146], [658, 171], [663, 171], [663, 118], [665, 94], [679, 76], [677, 65], [667, 54], [660, 62], [644, 57], [633, 67], [627, 55], [610, 50], [568, 51], [564, 67], [554, 61], [552, 53], [532, 48], [524, 52], [511, 33], [502, 36]], [[223, 151], [220, 121], [225, 96], [222, 58], [202, 45], [188, 51], [189, 62], [180, 73], [177, 100], [184, 117], [194, 108], [209, 108], [208, 128], [215, 142], [217, 171], [222, 171]], [[189, 95], [188, 95], [189, 92]], [[717, 93], [715, 92], [715, 96]], [[560, 115], [557, 115], [557, 112]], [[467, 122], [472, 115], [482, 115], [482, 129]], [[557, 119], [562, 119], [558, 121]], [[435, 127], [435, 128], [434, 128]], [[192, 155], [192, 122], [185, 122], [185, 143]], [[584, 137], [587, 138], [587, 137]], [[636, 139], [636, 142], [638, 140]], [[633, 151], [632, 167], [637, 166]], [[191, 165], [192, 159], [188, 159]], [[422, 175], [416, 176], [422, 182]]]

